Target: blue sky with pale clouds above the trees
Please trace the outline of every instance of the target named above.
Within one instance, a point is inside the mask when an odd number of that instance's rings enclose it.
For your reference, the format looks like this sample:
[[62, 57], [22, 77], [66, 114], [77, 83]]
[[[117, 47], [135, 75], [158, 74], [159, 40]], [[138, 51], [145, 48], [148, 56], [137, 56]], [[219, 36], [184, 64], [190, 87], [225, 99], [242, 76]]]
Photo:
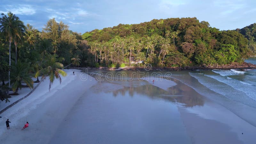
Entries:
[[256, 22], [256, 0], [1, 0], [0, 13], [16, 14], [42, 30], [49, 19], [85, 33], [153, 19], [196, 17], [220, 30]]

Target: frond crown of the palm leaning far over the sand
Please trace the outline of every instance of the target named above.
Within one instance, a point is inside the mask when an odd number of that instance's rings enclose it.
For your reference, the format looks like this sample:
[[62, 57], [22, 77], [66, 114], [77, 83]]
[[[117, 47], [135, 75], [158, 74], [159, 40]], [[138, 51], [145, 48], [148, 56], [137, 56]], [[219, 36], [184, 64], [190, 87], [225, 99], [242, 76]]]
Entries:
[[36, 72], [35, 77], [42, 75], [42, 78], [45, 78], [49, 76], [50, 79], [50, 84], [49, 84], [49, 91], [51, 89], [51, 86], [53, 84], [54, 79], [58, 79], [61, 84], [61, 77], [62, 76], [67, 76], [67, 73], [61, 68], [63, 68], [63, 64], [60, 62], [57, 62], [57, 55], [51, 55], [51, 54], [46, 54], [47, 60], [43, 64], [43, 69], [39, 70]]

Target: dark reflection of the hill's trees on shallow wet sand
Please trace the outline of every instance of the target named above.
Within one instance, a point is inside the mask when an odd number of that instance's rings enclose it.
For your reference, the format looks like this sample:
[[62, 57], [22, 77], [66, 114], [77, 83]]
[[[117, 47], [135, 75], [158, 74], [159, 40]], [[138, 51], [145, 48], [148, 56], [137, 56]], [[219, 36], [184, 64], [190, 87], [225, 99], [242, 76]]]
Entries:
[[126, 92], [128, 92], [131, 97], [136, 95], [136, 93], [139, 93], [146, 95], [151, 99], [163, 99], [170, 102], [177, 102], [184, 107], [204, 105], [204, 97], [180, 81], [176, 81], [177, 85], [168, 88], [167, 91], [152, 84], [148, 84], [145, 81], [142, 81], [142, 84], [135, 84], [134, 86], [127, 86], [127, 84], [123, 83], [124, 82], [120, 83], [118, 81], [98, 82], [97, 85], [92, 87], [92, 90], [94, 92], [111, 92], [114, 97], [118, 95], [124, 96]]

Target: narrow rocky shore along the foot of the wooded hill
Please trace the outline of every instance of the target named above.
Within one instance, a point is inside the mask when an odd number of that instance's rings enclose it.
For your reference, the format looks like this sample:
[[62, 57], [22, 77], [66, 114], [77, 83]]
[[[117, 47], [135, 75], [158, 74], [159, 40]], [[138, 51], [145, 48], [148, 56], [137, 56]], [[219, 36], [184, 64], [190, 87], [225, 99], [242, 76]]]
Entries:
[[81, 68], [76, 68], [75, 69], [80, 69], [80, 70], [175, 70], [175, 71], [179, 71], [179, 70], [197, 70], [197, 69], [255, 69], [256, 65], [251, 64], [251, 63], [233, 63], [233, 64], [229, 64], [229, 65], [216, 65], [216, 66], [193, 66], [193, 67], [135, 67], [135, 66], [127, 66], [125, 68], [108, 68], [108, 67], [99, 67], [99, 68], [95, 68], [95, 67], [81, 67]]

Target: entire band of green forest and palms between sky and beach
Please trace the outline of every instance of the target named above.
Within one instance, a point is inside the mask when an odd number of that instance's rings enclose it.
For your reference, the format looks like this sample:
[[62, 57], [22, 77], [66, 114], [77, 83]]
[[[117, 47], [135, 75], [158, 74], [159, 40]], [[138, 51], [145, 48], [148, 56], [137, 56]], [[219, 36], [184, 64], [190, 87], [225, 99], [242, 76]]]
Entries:
[[[1, 100], [7, 90], [18, 94], [33, 88], [38, 76], [61, 82], [62, 70], [76, 67], [124, 67], [151, 64], [154, 67], [215, 66], [241, 63], [256, 52], [256, 24], [220, 31], [196, 18], [151, 20], [119, 24], [84, 34], [69, 30], [54, 18], [42, 31], [24, 24], [12, 12], [0, 18]], [[131, 63], [143, 61], [143, 63]], [[37, 77], [33, 81], [31, 77]], [[6, 81], [8, 81], [6, 83]]]

